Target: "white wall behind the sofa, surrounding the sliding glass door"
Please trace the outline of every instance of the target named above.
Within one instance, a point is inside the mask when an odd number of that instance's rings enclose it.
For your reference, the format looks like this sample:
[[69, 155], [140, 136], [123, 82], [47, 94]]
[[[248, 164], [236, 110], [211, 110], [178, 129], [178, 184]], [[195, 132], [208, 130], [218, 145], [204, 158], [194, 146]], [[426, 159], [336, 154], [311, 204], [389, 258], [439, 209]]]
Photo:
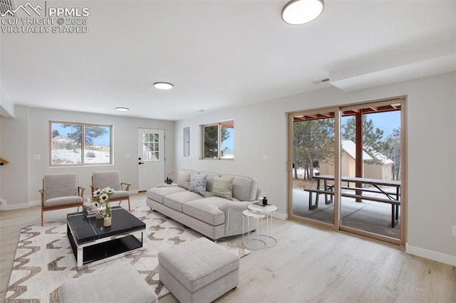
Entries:
[[[185, 119], [175, 124], [175, 167], [253, 176], [285, 218], [286, 112], [408, 95], [407, 250], [456, 265], [455, 86], [456, 73], [447, 73], [348, 93], [330, 87]], [[200, 159], [200, 125], [224, 119], [234, 119], [234, 161]], [[190, 127], [188, 158], [183, 127]]]

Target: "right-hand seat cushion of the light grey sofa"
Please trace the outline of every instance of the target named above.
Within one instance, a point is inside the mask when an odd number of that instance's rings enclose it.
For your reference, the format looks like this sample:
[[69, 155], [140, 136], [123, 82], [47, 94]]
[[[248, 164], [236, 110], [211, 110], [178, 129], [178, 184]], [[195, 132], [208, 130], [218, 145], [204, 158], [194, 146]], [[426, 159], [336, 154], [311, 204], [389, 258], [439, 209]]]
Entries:
[[185, 203], [182, 206], [182, 212], [207, 224], [217, 226], [225, 223], [225, 214], [219, 209], [219, 206], [224, 203], [227, 203], [227, 199], [220, 197], [197, 199]]

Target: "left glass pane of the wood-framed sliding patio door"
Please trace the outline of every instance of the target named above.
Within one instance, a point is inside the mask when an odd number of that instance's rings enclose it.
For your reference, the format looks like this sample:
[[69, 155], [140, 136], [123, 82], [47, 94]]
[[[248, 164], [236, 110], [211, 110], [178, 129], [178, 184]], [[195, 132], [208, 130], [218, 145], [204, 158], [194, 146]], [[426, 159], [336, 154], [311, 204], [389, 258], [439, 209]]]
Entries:
[[318, 193], [319, 188], [328, 188], [332, 182], [318, 177], [334, 175], [334, 112], [307, 112], [291, 119], [291, 215], [333, 225], [333, 196]]

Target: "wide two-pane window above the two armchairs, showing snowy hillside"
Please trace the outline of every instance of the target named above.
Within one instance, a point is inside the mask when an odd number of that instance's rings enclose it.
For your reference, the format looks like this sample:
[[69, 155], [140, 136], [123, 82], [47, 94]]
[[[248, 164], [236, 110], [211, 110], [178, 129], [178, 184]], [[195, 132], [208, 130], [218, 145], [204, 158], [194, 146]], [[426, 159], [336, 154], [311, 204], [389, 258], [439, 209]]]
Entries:
[[112, 164], [112, 125], [49, 122], [51, 166]]

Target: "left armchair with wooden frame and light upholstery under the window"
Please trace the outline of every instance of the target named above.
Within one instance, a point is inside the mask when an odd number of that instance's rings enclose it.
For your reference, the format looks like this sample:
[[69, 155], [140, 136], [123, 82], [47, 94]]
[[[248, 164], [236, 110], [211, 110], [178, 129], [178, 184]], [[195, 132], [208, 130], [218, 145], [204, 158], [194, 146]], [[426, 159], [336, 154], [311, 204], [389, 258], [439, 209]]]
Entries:
[[43, 213], [56, 209], [83, 206], [84, 188], [78, 186], [78, 175], [70, 174], [45, 174], [41, 193], [41, 226], [43, 226]]

